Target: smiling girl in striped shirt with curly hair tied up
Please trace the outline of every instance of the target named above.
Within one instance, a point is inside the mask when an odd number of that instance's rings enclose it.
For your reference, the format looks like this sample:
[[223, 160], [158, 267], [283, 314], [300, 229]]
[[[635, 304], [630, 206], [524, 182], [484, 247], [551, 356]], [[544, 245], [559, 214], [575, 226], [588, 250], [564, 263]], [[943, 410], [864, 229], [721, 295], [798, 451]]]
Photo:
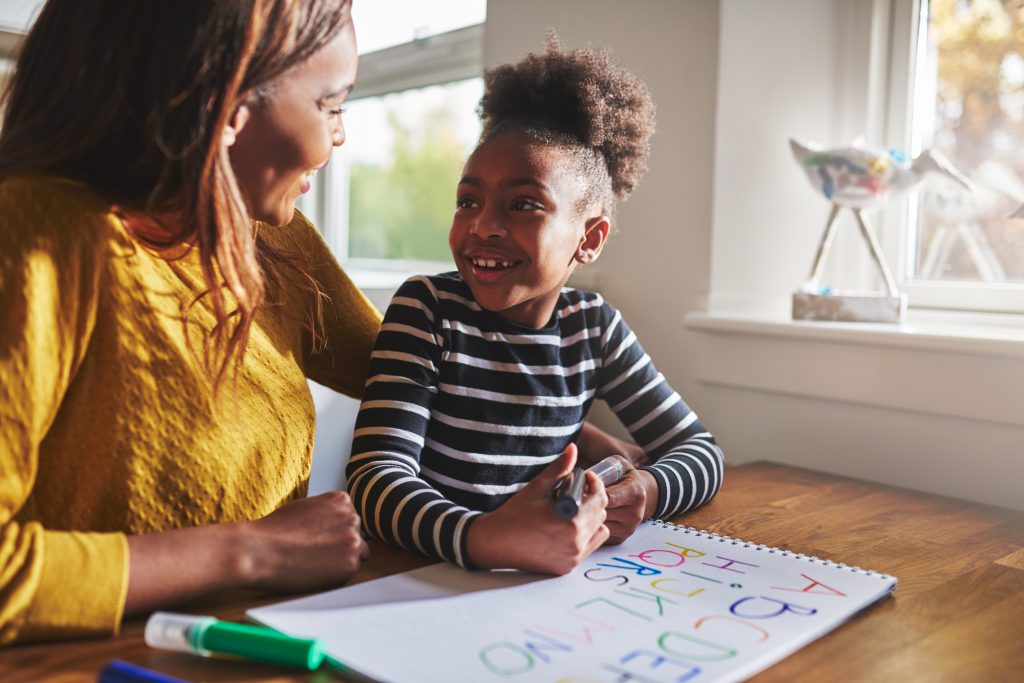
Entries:
[[[606, 55], [566, 51], [486, 75], [480, 142], [450, 233], [458, 272], [418, 276], [384, 317], [356, 422], [348, 488], [366, 529], [463, 566], [563, 573], [646, 517], [701, 505], [722, 453], [618, 311], [566, 289], [644, 170], [653, 105]], [[551, 492], [591, 447], [606, 400], [654, 461], [571, 521]], [[581, 438], [582, 437], [582, 438]]]

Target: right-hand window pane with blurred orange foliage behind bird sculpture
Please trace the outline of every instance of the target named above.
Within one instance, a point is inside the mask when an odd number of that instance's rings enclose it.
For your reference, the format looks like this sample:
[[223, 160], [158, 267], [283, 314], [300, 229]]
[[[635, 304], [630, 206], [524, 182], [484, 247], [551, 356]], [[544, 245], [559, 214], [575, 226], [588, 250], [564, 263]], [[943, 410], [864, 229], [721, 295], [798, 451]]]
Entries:
[[974, 182], [930, 182], [915, 279], [1024, 281], [1024, 0], [931, 0], [915, 125]]

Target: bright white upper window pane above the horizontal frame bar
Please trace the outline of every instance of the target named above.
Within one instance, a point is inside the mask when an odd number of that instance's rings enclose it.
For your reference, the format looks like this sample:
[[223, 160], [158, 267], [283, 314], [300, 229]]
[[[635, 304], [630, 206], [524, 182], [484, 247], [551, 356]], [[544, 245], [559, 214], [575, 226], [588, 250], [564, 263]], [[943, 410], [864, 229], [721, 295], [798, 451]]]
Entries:
[[359, 54], [483, 24], [486, 13], [486, 0], [362, 0], [352, 4]]

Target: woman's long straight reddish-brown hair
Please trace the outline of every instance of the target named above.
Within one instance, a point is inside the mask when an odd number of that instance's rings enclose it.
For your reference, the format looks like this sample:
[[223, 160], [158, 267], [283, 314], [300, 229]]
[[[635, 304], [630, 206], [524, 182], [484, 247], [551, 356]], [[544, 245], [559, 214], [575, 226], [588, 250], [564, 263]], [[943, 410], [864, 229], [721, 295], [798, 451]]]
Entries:
[[[150, 247], [198, 248], [207, 291], [197, 301], [208, 296], [217, 321], [204, 355], [215, 387], [242, 359], [267, 281], [297, 268], [259, 239], [224, 127], [244, 98], [330, 42], [350, 4], [49, 0], [4, 93], [0, 178], [60, 175], [115, 210], [180, 217], [159, 237], [133, 231]], [[303, 282], [318, 293], [311, 278]], [[318, 314], [309, 321], [314, 338]]]

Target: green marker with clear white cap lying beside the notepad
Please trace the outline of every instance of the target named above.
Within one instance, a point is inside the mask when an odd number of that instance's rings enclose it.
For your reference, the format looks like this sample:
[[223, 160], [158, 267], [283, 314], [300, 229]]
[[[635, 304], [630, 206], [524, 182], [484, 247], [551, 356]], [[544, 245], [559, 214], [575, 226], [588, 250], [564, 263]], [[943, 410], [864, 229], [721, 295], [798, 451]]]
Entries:
[[261, 626], [173, 612], [153, 613], [145, 623], [145, 643], [164, 650], [203, 656], [229, 654], [306, 671], [319, 667], [325, 656], [318, 640], [292, 638]]

